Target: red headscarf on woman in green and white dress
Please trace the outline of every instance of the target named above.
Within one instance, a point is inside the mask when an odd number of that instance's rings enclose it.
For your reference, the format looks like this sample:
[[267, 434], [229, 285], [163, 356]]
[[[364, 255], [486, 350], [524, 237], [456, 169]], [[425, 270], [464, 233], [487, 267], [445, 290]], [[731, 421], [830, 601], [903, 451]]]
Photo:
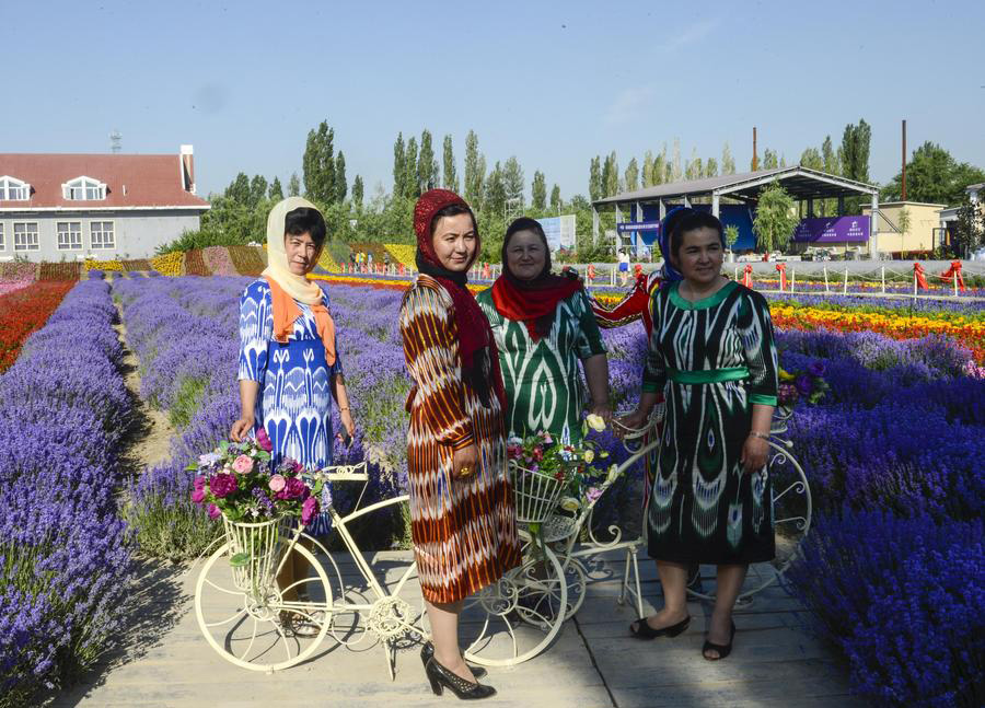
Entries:
[[[541, 274], [533, 280], [520, 280], [509, 268], [507, 249], [510, 239], [520, 231], [533, 231], [544, 244], [546, 258]], [[523, 322], [533, 341], [551, 330], [557, 303], [582, 289], [581, 282], [567, 276], [551, 274], [551, 248], [544, 229], [534, 219], [521, 217], [507, 229], [502, 241], [502, 275], [493, 283], [493, 304], [508, 320]]]

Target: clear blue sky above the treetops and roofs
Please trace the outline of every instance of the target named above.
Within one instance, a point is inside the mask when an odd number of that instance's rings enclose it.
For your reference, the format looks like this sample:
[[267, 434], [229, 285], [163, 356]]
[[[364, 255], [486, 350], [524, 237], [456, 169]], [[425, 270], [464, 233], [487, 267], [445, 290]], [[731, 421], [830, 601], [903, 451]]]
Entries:
[[393, 142], [470, 128], [491, 166], [515, 154], [565, 198], [589, 160], [680, 138], [685, 159], [796, 162], [845, 124], [872, 125], [871, 176], [939, 142], [985, 167], [985, 3], [5, 2], [0, 152], [193, 143], [199, 191], [236, 172], [301, 173], [327, 118], [351, 181], [391, 187]]

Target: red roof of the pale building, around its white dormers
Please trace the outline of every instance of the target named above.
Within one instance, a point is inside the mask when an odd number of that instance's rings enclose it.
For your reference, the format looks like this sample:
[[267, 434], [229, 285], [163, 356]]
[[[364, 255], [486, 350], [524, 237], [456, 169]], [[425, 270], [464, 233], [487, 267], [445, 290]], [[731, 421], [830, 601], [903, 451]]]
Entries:
[[[184, 189], [182, 156], [178, 154], [0, 153], [0, 177], [3, 176], [31, 185], [31, 198], [27, 201], [0, 200], [0, 207], [8, 209], [209, 206], [205, 199]], [[65, 199], [61, 185], [82, 176], [105, 184], [106, 198], [95, 201]]]

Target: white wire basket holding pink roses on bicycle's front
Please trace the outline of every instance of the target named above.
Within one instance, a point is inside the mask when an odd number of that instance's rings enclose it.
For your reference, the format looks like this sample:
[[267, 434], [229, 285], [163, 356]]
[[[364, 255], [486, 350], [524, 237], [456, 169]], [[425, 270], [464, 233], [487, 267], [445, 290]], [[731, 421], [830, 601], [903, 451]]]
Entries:
[[274, 585], [281, 550], [297, 519], [280, 517], [260, 523], [235, 523], [222, 515], [233, 584], [245, 593], [265, 592]]

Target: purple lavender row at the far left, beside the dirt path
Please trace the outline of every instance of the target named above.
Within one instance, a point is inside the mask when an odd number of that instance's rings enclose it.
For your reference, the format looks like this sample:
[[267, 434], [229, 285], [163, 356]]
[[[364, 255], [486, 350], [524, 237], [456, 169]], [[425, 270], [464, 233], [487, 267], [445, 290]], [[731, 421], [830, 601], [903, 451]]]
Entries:
[[130, 577], [115, 488], [130, 399], [105, 282], [81, 282], [0, 376], [0, 706], [90, 665]]

